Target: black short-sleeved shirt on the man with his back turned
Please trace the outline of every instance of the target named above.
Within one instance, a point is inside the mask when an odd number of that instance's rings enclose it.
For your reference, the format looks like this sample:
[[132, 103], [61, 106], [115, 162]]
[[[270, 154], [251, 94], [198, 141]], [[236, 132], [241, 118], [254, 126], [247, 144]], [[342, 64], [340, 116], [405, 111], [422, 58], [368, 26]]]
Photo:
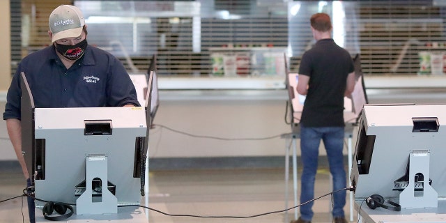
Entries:
[[344, 126], [344, 93], [351, 55], [333, 39], [318, 40], [300, 61], [299, 75], [309, 76], [300, 123], [305, 127]]

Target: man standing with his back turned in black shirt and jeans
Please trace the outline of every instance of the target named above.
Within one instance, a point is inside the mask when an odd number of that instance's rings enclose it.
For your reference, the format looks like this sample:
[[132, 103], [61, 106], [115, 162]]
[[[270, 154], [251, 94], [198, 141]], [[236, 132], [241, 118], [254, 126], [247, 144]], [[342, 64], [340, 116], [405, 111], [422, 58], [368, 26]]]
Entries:
[[[300, 120], [300, 149], [303, 172], [300, 203], [314, 199], [314, 181], [318, 167], [321, 139], [327, 151], [333, 191], [346, 188], [344, 170], [344, 96], [355, 86], [351, 55], [331, 38], [332, 24], [325, 13], [312, 15], [311, 29], [316, 45], [302, 56], [298, 93], [307, 95]], [[333, 194], [333, 220], [347, 222], [344, 216], [346, 190]], [[309, 223], [313, 218], [313, 201], [300, 207], [300, 217], [292, 223]]]

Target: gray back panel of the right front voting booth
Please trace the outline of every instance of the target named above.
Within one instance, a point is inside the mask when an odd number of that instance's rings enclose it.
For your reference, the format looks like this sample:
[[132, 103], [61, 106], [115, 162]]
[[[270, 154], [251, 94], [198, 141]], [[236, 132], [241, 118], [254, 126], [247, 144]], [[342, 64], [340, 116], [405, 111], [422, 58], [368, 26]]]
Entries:
[[365, 105], [350, 176], [355, 199], [399, 198], [395, 181], [406, 174], [414, 151], [429, 153], [431, 187], [446, 197], [445, 125], [446, 105]]

